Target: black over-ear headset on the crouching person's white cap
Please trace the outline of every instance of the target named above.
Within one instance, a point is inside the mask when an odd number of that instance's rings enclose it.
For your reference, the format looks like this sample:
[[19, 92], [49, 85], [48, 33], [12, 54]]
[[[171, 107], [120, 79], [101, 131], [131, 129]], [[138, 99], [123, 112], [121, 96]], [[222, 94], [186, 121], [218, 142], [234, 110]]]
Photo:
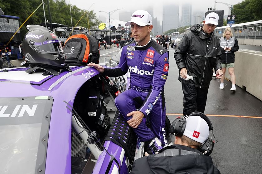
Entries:
[[[211, 138], [207, 137], [206, 140], [199, 146], [198, 150], [203, 154], [203, 155], [207, 155], [209, 156], [214, 148], [214, 144], [217, 143], [217, 140], [215, 138], [215, 136], [213, 135], [213, 126], [211, 121], [209, 120], [209, 118], [203, 114], [202, 112], [192, 112], [189, 115], [186, 115], [184, 118], [181, 117], [177, 117], [172, 124], [170, 125], [170, 133], [181, 137], [185, 131], [186, 128], [186, 124], [187, 121], [185, 118], [190, 117], [190, 116], [200, 116], [201, 118], [203, 118], [208, 127], [209, 127], [209, 131], [211, 131]], [[212, 141], [212, 137], [214, 136], [216, 142]]]

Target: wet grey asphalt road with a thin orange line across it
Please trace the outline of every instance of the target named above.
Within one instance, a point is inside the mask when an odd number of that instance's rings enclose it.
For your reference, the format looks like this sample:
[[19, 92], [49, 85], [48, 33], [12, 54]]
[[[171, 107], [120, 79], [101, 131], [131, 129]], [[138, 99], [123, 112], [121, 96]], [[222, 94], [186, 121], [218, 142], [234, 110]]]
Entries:
[[[101, 50], [100, 62], [108, 62], [118, 52], [115, 50], [118, 49]], [[109, 53], [112, 51], [115, 52]], [[177, 117], [172, 114], [182, 115], [183, 109], [183, 93], [177, 80], [178, 69], [173, 54], [174, 49], [170, 48], [170, 66], [165, 84], [166, 113], [171, 122]], [[223, 174], [261, 174], [262, 118], [258, 117], [262, 117], [262, 102], [238, 86], [236, 92], [232, 92], [230, 81], [225, 79], [224, 83], [225, 88], [219, 89], [220, 80], [211, 80], [205, 110], [207, 115], [216, 115], [209, 116], [218, 140], [211, 154], [213, 162]], [[174, 141], [173, 135], [169, 135], [168, 141]]]

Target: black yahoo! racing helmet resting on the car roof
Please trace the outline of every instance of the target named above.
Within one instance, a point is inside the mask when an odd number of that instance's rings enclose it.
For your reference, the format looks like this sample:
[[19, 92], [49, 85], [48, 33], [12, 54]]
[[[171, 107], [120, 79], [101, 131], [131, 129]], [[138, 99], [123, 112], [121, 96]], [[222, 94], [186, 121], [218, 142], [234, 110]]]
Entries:
[[27, 29], [29, 31], [23, 40], [23, 53], [30, 67], [64, 68], [65, 55], [57, 35], [40, 25], [27, 25]]

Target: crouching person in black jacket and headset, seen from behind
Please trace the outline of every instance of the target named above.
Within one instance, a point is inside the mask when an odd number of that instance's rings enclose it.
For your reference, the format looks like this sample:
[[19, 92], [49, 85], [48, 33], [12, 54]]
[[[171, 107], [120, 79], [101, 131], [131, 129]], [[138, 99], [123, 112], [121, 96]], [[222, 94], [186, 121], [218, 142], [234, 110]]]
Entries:
[[[208, 137], [209, 131], [212, 132], [211, 138]], [[138, 158], [131, 173], [220, 174], [208, 156], [212, 153], [214, 141], [211, 140], [212, 123], [205, 114], [192, 112], [184, 118], [177, 117], [170, 126], [170, 133], [176, 135], [174, 145]]]

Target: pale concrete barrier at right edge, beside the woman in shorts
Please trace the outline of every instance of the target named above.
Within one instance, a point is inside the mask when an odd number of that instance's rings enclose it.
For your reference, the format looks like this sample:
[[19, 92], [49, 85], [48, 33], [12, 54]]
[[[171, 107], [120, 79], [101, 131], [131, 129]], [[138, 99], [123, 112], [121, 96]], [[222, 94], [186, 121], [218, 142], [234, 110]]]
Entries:
[[[236, 85], [262, 100], [262, 52], [240, 49], [235, 52]], [[225, 77], [230, 80], [228, 70]]]

